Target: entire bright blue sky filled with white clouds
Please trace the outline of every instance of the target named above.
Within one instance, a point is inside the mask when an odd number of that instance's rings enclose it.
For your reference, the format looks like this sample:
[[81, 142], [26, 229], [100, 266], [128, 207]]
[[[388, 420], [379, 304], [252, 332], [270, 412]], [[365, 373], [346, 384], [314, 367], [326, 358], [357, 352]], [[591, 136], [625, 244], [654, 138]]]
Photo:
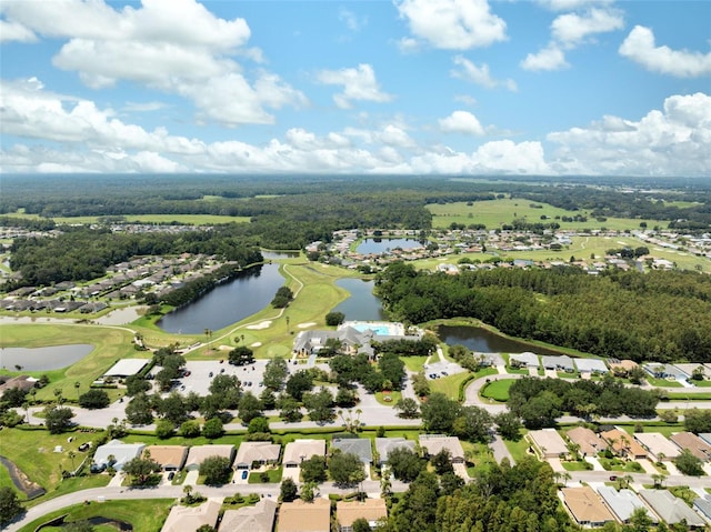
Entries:
[[711, 175], [711, 2], [4, 0], [0, 171]]

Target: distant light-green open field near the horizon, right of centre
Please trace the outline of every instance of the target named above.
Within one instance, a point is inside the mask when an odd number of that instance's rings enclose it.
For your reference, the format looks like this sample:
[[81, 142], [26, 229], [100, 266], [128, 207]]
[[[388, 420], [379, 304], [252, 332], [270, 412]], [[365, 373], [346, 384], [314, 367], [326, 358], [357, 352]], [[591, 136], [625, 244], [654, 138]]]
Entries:
[[[532, 204], [541, 205], [542, 209], [531, 207]], [[625, 229], [639, 229], [640, 223], [647, 221], [649, 227], [653, 227], [655, 222], [652, 220], [635, 220], [629, 218], [608, 218], [604, 222], [599, 222], [590, 212], [587, 211], [567, 211], [548, 203], [533, 202], [522, 198], [519, 199], [501, 199], [492, 201], [475, 201], [471, 205], [465, 202], [433, 203], [427, 205], [427, 209], [434, 215], [432, 227], [435, 229], [449, 228], [452, 223], [483, 223], [487, 229], [497, 229], [504, 223], [511, 223], [517, 218], [524, 218], [530, 223], [560, 223], [561, 229], [615, 229], [623, 231]], [[575, 214], [588, 217], [587, 222], [563, 222], [555, 220], [555, 217], [574, 217]], [[541, 220], [542, 215], [550, 217], [549, 220]]]

